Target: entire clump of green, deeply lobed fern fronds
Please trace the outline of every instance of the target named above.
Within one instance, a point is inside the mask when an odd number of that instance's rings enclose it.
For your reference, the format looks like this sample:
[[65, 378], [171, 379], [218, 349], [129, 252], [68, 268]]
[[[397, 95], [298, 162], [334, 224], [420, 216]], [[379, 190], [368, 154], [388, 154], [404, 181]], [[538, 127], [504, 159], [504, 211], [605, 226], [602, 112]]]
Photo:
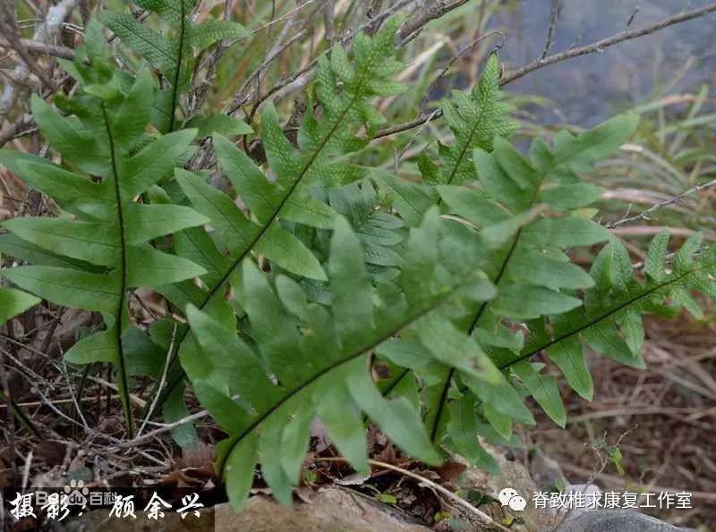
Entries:
[[[416, 157], [422, 181], [408, 181], [362, 157], [386, 122], [376, 100], [404, 89], [398, 20], [357, 35], [350, 52], [336, 44], [320, 55], [292, 142], [271, 104], [249, 128], [183, 102], [200, 51], [243, 29], [195, 24], [186, 0], [137, 4], [160, 15], [169, 38], [129, 14], [102, 13], [141, 55], [127, 55], [134, 68], [115, 67], [92, 21], [74, 63], [63, 63], [76, 92], [55, 94], [55, 108], [33, 99], [61, 164], [0, 151], [0, 163], [56, 206], [55, 217], [4, 223], [0, 250], [27, 264], [2, 274], [43, 300], [102, 314], [104, 330], [65, 359], [114, 364], [127, 438], [141, 374], [132, 359], [168, 353], [157, 403], [166, 420], [183, 418], [188, 381], [226, 432], [216, 471], [237, 509], [257, 464], [272, 494], [291, 503], [314, 418], [358, 471], [369, 469], [367, 421], [428, 464], [457, 452], [494, 471], [478, 435], [508, 441], [515, 423], [533, 424], [525, 397], [565, 426], [548, 364], [591, 400], [585, 345], [644, 367], [644, 313], [698, 315], [692, 291], [716, 296], [716, 251], [698, 234], [668, 268], [669, 235], [658, 235], [641, 274], [592, 220], [603, 190], [582, 176], [630, 138], [635, 114], [561, 132], [551, 146], [535, 139], [523, 155], [507, 139], [516, 123], [491, 55], [478, 86], [444, 103], [454, 139], [439, 144], [437, 161]], [[253, 129], [265, 164], [232, 139]], [[228, 191], [195, 164], [197, 150], [216, 160]], [[595, 247], [589, 272], [571, 260]], [[172, 312], [133, 323], [127, 299], [137, 287]], [[0, 318], [37, 302], [0, 291]], [[390, 369], [379, 383], [377, 361]], [[197, 437], [191, 425], [174, 435], [182, 445]]]

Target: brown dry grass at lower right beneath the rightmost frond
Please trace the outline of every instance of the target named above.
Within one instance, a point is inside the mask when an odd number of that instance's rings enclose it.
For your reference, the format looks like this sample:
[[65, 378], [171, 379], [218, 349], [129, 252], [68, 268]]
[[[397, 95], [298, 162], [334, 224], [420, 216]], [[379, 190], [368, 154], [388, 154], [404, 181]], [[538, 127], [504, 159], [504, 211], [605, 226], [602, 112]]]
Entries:
[[[716, 325], [689, 317], [647, 320], [643, 371], [592, 356], [594, 401], [567, 393], [569, 426], [543, 416], [528, 442], [558, 460], [574, 484], [592, 477], [605, 490], [692, 492], [692, 510], [645, 511], [678, 526], [716, 526]], [[623, 435], [626, 474], [601, 461], [591, 443]], [[644, 510], [643, 510], [644, 511]]]

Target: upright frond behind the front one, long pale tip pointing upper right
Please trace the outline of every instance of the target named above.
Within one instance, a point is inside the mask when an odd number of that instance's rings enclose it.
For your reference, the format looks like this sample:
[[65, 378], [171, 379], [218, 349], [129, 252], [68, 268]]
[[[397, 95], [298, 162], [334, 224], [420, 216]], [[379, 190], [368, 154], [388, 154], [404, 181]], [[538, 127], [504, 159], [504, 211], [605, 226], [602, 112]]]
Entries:
[[[514, 224], [524, 213], [538, 206], [548, 209], [546, 215], [521, 226], [509, 245], [486, 266], [488, 278], [498, 287], [498, 296], [482, 303], [464, 318], [465, 333], [473, 335], [490, 355], [510, 344], [517, 349], [521, 347], [520, 338], [513, 338], [514, 334], [502, 323], [504, 320], [522, 321], [547, 314], [558, 316], [582, 305], [574, 291], [591, 286], [592, 279], [571, 264], [565, 249], [608, 241], [609, 232], [599, 224], [571, 214], [572, 210], [591, 204], [601, 195], [599, 187], [581, 182], [575, 171], [588, 171], [600, 157], [618, 148], [634, 131], [635, 124], [635, 117], [622, 116], [576, 137], [562, 134], [554, 150], [535, 140], [529, 159], [506, 140], [497, 138], [491, 154], [482, 148], [474, 150], [479, 176], [477, 187], [438, 187], [447, 212], [461, 216], [478, 231], [495, 224]], [[528, 368], [520, 369], [522, 380], [535, 399], [563, 425], [564, 410], [561, 401], [556, 404], [558, 390], [554, 381], [538, 373], [528, 373]], [[445, 434], [448, 403], [456, 377], [481, 400], [484, 417], [500, 435], [509, 437], [512, 419], [531, 421], [531, 416], [526, 416], [525, 410], [518, 406], [521, 401], [499, 400], [500, 395], [507, 393], [516, 397], [514, 391], [507, 391], [513, 388], [507, 380], [499, 391], [490, 392], [484, 386], [476, 386], [470, 376], [462, 376], [456, 368], [451, 368], [428, 392], [431, 401], [426, 422], [434, 442], [439, 442]]]

